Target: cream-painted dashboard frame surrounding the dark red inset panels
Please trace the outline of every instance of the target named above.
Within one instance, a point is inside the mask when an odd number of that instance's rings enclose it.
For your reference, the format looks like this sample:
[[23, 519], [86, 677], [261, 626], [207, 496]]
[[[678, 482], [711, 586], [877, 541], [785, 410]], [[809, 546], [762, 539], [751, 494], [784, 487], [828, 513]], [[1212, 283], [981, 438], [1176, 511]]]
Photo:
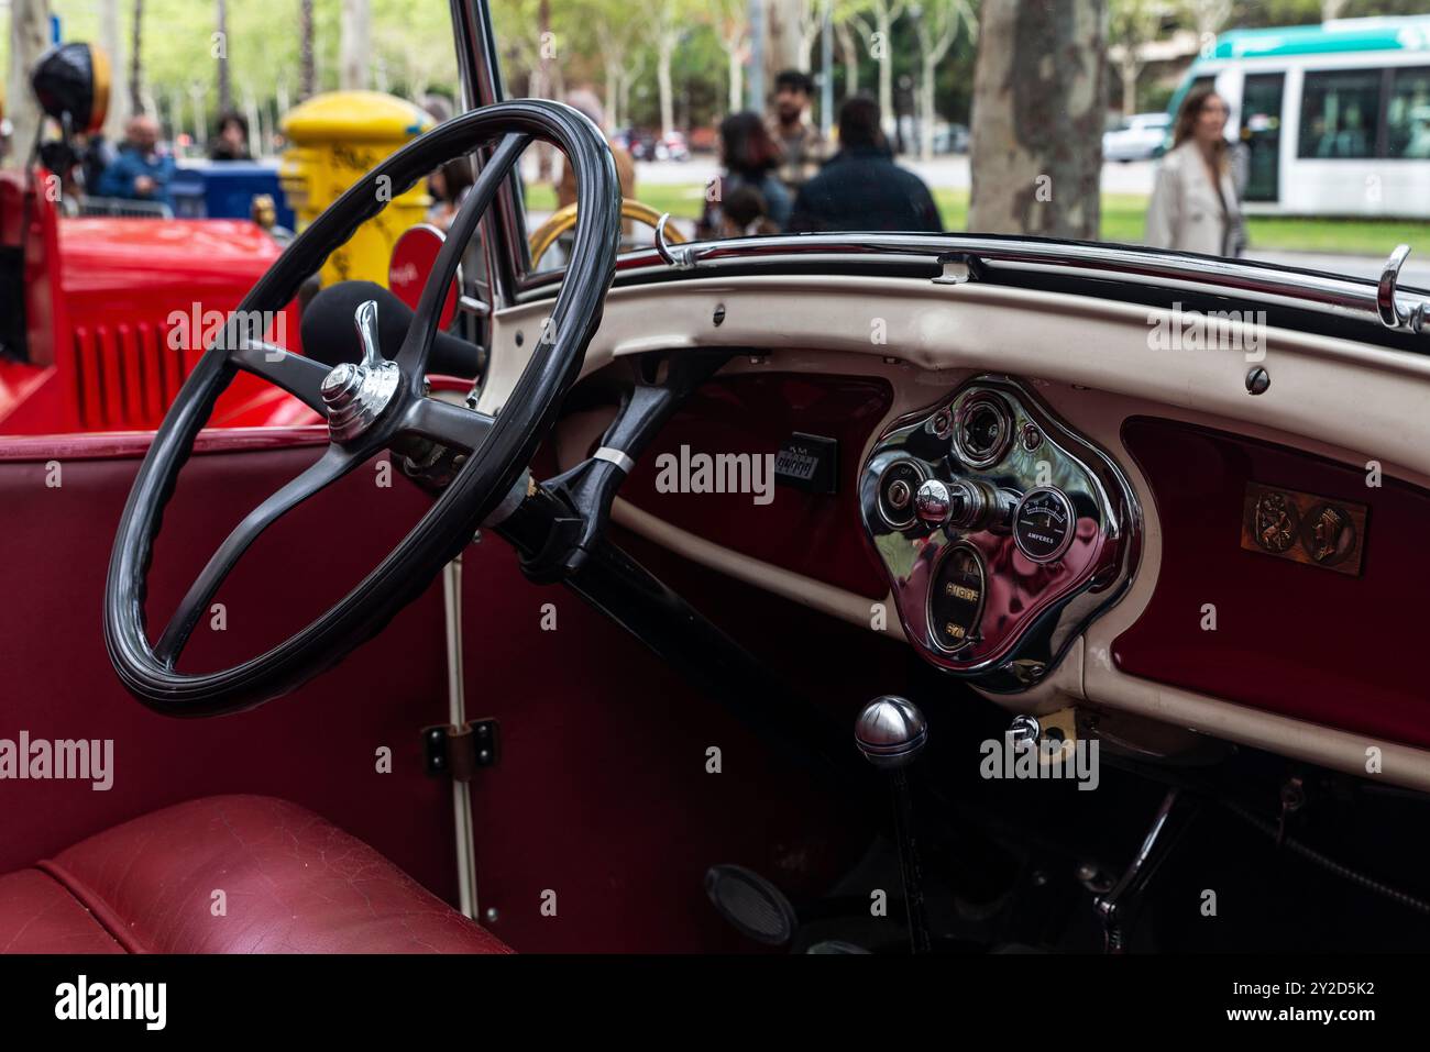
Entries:
[[[499, 409], [539, 329], [543, 309], [499, 312], [480, 409]], [[715, 324], [715, 309], [724, 320]], [[1348, 465], [1379, 462], [1387, 476], [1430, 487], [1430, 359], [1288, 330], [1247, 332], [1264, 350], [1256, 364], [1270, 389], [1246, 389], [1250, 360], [1227, 350], [1158, 350], [1150, 333], [1170, 312], [1087, 297], [912, 279], [741, 277], [612, 290], [585, 373], [618, 356], [698, 346], [762, 347], [725, 372], [811, 372], [885, 377], [895, 420], [928, 410], [980, 374], [1018, 377], [1125, 473], [1141, 510], [1141, 553], [1121, 599], [1091, 622], [1054, 673], [1018, 695], [994, 695], [1020, 710], [1070, 700], [1366, 773], [1380, 749], [1381, 778], [1430, 789], [1430, 752], [1167, 688], [1120, 670], [1113, 640], [1145, 610], [1161, 565], [1161, 526], [1151, 490], [1121, 439], [1131, 416], [1157, 416], [1264, 439]], [[1257, 343], [1257, 340], [1260, 343]], [[531, 340], [523, 343], [529, 347]], [[818, 347], [819, 350], [809, 350]], [[1374, 406], [1374, 413], [1346, 412]], [[572, 422], [559, 450], [569, 462], [602, 420]], [[869, 446], [872, 447], [871, 440]], [[861, 462], [869, 449], [861, 450]], [[616, 500], [618, 522], [678, 553], [831, 616], [868, 626], [865, 597], [759, 563]], [[851, 523], [851, 529], [861, 529]], [[897, 619], [891, 619], [894, 630]]]

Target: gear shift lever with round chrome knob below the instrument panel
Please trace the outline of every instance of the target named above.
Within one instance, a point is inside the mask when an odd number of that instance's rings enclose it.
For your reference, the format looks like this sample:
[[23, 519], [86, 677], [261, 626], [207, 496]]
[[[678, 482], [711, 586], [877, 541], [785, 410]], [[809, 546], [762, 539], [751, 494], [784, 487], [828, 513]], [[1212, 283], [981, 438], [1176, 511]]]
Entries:
[[915, 953], [928, 953], [932, 949], [932, 938], [924, 912], [924, 873], [918, 863], [914, 795], [908, 785], [908, 768], [928, 743], [928, 723], [917, 705], [904, 698], [885, 695], [875, 698], [859, 712], [854, 723], [854, 743], [864, 753], [864, 759], [889, 775], [909, 943]]

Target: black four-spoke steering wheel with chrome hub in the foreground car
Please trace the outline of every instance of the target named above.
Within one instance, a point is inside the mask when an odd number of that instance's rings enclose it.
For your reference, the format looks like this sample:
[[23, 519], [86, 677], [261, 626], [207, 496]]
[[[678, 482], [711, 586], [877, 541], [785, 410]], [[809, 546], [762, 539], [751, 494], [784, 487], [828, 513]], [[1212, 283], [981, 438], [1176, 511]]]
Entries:
[[[462, 252], [512, 164], [532, 142], [558, 146], [576, 173], [581, 202], [575, 247], [551, 319], [496, 419], [423, 394], [428, 357]], [[480, 177], [452, 223], [402, 349], [390, 362], [378, 346], [375, 309], [358, 312], [362, 364], [335, 369], [262, 343], [235, 320], [207, 349], [169, 409], [129, 495], [104, 589], [104, 642], [120, 680], [140, 702], [172, 716], [212, 716], [262, 705], [332, 668], [366, 642], [472, 539], [509, 496], [581, 373], [601, 323], [621, 237], [621, 184], [601, 132], [576, 110], [526, 100], [456, 117], [413, 140], [323, 212], [275, 262], [239, 307], [282, 310], [309, 274], [353, 230], [439, 164], [496, 140]], [[365, 316], [366, 314], [366, 316]], [[259, 314], [260, 316], [260, 314]], [[159, 642], [144, 626], [146, 575], [164, 506], [214, 400], [237, 370], [302, 399], [329, 422], [326, 452], [250, 512], [219, 546], [179, 603]], [[257, 536], [282, 515], [393, 442], [419, 436], [468, 457], [433, 506], [350, 593], [297, 635], [242, 665], [202, 675], [174, 670], [213, 595]]]

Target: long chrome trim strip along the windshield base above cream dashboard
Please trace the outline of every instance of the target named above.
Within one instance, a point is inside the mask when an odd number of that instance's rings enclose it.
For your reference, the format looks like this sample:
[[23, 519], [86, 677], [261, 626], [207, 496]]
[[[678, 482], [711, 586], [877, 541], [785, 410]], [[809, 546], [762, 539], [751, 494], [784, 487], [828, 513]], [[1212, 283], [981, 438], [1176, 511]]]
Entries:
[[[681, 246], [685, 273], [716, 273], [729, 267], [786, 267], [809, 263], [945, 263], [964, 257], [990, 270], [1035, 270], [1081, 277], [1108, 277], [1158, 287], [1238, 296], [1298, 310], [1317, 310], [1338, 317], [1381, 324], [1377, 283], [1370, 279], [1337, 277], [1296, 270], [1271, 263], [1251, 263], [1213, 256], [1191, 256], [1138, 246], [1048, 242], [1021, 237], [971, 234], [781, 234], [695, 242]], [[672, 253], [674, 254], [674, 253]], [[625, 253], [616, 262], [616, 280], [669, 276], [655, 249]], [[549, 296], [563, 277], [562, 270], [523, 282], [518, 299]], [[1430, 300], [1430, 290], [1397, 289], [1399, 317], [1411, 317]]]

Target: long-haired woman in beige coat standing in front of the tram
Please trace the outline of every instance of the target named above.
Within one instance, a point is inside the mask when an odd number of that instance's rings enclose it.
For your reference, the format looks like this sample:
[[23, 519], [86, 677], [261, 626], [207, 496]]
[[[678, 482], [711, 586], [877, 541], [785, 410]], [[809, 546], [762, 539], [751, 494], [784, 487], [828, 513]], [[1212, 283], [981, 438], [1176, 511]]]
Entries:
[[1163, 157], [1147, 207], [1147, 243], [1155, 249], [1240, 256], [1241, 207], [1223, 132], [1227, 103], [1210, 87], [1188, 93], [1177, 114], [1173, 149]]

